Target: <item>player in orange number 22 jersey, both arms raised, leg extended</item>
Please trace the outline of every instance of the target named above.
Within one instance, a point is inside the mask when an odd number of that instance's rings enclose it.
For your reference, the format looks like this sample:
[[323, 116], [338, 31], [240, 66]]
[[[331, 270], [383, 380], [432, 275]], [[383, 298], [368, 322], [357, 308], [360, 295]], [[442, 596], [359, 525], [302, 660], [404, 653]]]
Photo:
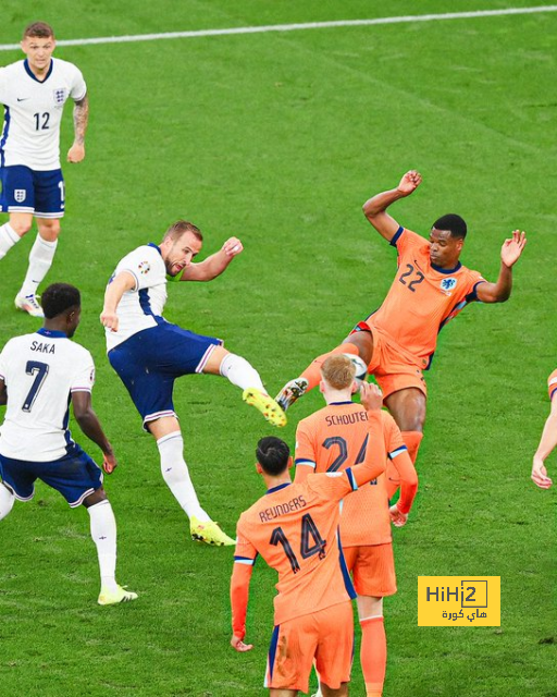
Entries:
[[[366, 218], [396, 247], [398, 270], [381, 307], [331, 352], [357, 354], [368, 364], [413, 462], [425, 420], [422, 370], [430, 367], [440, 329], [472, 301], [507, 301], [512, 288], [512, 267], [527, 243], [525, 234], [519, 230], [505, 240], [499, 277], [490, 283], [459, 261], [467, 233], [460, 216], [449, 213], [437, 219], [425, 240], [399, 225], [386, 212], [396, 200], [412, 194], [421, 181], [419, 172], [411, 170], [396, 188], [376, 194], [363, 204]], [[284, 386], [276, 398], [283, 409], [319, 384], [320, 368], [327, 355], [319, 356], [299, 378]]]

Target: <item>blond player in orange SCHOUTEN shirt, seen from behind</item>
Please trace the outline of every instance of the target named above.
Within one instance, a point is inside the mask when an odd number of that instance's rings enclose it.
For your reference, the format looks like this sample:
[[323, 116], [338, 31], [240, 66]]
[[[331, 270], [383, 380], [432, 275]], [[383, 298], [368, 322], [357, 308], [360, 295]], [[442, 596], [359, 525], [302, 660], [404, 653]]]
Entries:
[[[338, 472], [360, 462], [370, 442], [368, 418], [361, 404], [351, 401], [355, 367], [342, 355], [332, 355], [321, 368], [320, 390], [327, 406], [298, 424], [295, 484], [312, 473]], [[389, 511], [385, 476], [361, 487], [343, 505], [341, 539], [348, 571], [358, 594], [361, 625], [360, 660], [367, 697], [381, 697], [385, 681], [387, 641], [383, 624], [383, 598], [396, 592], [391, 519], [401, 526], [408, 518], [418, 475], [403, 437], [387, 412], [383, 417], [385, 451], [399, 473], [400, 500]], [[322, 693], [318, 693], [321, 697]]]

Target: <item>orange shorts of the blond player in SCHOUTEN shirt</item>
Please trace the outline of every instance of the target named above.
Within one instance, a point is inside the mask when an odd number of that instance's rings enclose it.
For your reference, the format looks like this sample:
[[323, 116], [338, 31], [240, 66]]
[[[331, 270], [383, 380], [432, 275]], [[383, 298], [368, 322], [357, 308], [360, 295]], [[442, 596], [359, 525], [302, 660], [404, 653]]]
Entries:
[[343, 553], [359, 596], [383, 598], [395, 595], [395, 558], [391, 542], [343, 547]]

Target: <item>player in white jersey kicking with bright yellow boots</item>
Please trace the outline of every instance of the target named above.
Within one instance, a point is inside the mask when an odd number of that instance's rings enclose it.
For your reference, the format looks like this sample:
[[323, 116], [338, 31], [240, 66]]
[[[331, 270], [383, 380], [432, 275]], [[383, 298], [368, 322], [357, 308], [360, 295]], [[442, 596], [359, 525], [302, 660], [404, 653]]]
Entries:
[[166, 276], [180, 281], [211, 281], [242, 250], [237, 237], [199, 264], [202, 235], [196, 225], [178, 220], [160, 245], [138, 247], [116, 267], [104, 294], [100, 316], [107, 332], [109, 360], [141, 415], [144, 428], [157, 440], [162, 476], [189, 516], [191, 537], [209, 545], [234, 545], [200, 506], [184, 460], [172, 391], [183, 375], [209, 372], [227, 378], [244, 390], [244, 400], [275, 426], [286, 417], [269, 396], [258, 371], [223, 347], [220, 339], [195, 334], [162, 317]]

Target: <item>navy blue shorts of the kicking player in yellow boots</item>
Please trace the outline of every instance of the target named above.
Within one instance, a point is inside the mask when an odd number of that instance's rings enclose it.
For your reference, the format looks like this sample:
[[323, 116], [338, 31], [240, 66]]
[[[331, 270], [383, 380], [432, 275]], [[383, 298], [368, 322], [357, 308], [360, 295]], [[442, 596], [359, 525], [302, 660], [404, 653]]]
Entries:
[[109, 360], [126, 386], [145, 427], [163, 416], [176, 416], [172, 400], [174, 380], [202, 372], [214, 346], [221, 345], [221, 339], [162, 322], [112, 348]]

